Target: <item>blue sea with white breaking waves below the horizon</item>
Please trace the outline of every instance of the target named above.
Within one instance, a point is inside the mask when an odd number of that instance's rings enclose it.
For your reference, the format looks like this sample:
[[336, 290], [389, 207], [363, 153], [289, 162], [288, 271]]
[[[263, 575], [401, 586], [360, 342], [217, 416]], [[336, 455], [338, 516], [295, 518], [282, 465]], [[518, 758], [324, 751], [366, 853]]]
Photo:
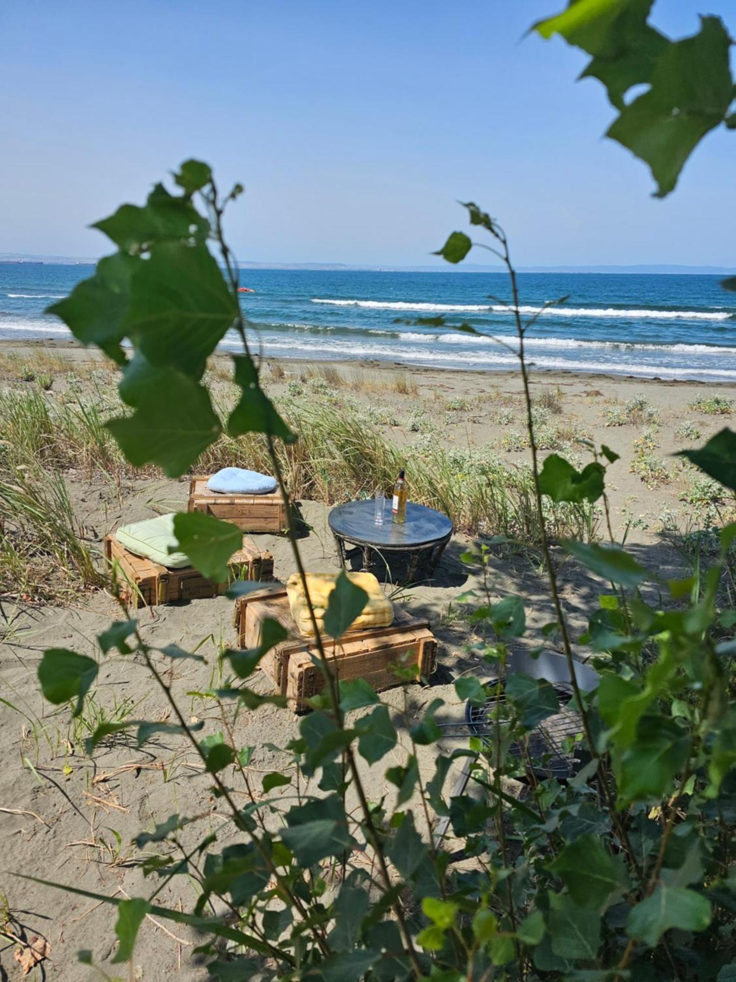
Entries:
[[[91, 273], [82, 264], [0, 263], [0, 339], [69, 337], [45, 309]], [[522, 315], [539, 314], [526, 340], [537, 369], [736, 381], [736, 294], [718, 276], [520, 273], [518, 281]], [[240, 283], [253, 291], [240, 295], [251, 341], [267, 357], [518, 366], [502, 273], [242, 269]], [[237, 348], [237, 338], [221, 347]]]

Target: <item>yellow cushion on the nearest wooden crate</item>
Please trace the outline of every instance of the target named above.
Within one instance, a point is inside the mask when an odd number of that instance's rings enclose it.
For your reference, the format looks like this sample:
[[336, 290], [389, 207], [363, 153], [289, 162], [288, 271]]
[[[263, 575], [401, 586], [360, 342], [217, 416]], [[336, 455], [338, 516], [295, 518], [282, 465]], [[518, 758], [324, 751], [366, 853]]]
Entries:
[[[325, 612], [330, 602], [330, 594], [335, 589], [338, 573], [307, 573], [307, 588], [309, 598], [314, 607], [314, 616], [320, 632], [325, 627]], [[368, 594], [365, 607], [352, 622], [350, 630], [366, 630], [369, 627], [388, 627], [394, 621], [394, 608], [390, 600], [384, 596], [379, 581], [373, 573], [346, 573], [347, 578], [355, 586], [359, 586]], [[304, 637], [314, 637], [314, 627], [309, 617], [304, 586], [301, 576], [293, 573], [287, 580], [287, 595], [291, 617], [299, 633]]]

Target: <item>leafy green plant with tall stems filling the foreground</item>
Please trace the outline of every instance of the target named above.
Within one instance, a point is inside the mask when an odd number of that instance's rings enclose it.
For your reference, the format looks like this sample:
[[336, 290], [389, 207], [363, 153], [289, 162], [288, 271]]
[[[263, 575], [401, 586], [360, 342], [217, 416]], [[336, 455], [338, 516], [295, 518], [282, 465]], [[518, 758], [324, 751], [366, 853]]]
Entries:
[[[99, 223], [119, 251], [101, 260], [95, 276], [55, 310], [80, 341], [120, 364], [121, 395], [131, 413], [108, 425], [131, 463], [152, 462], [180, 474], [221, 430], [262, 433], [286, 492], [276, 446], [295, 436], [260, 388], [222, 231], [224, 208], [238, 189], [221, 197], [207, 165], [196, 161], [183, 165], [176, 182], [180, 193], [158, 186], [145, 206], [125, 205]], [[131, 671], [149, 673], [169, 704], [171, 722], [106, 721], [88, 737], [88, 751], [114, 734], [130, 733], [140, 746], [161, 733], [182, 736], [238, 836], [222, 847], [216, 834], [198, 834], [201, 815], [171, 815], [141, 831], [135, 842], [154, 886], [146, 897], [96, 898], [117, 907], [115, 961], [131, 958], [137, 931], [153, 914], [202, 932], [198, 952], [209, 957], [210, 974], [223, 980], [604, 982], [727, 978], [734, 971], [729, 823], [736, 813], [736, 709], [728, 661], [734, 619], [722, 609], [720, 582], [736, 524], [723, 529], [719, 555], [698, 582], [663, 582], [614, 540], [605, 479], [615, 452], [591, 444], [593, 460], [582, 468], [557, 454], [540, 459], [525, 356], [538, 315], [522, 319], [499, 224], [473, 203], [466, 208], [471, 225], [490, 236], [483, 247], [500, 257], [510, 278], [533, 507], [553, 621], [532, 630], [519, 597], [497, 599], [489, 572], [492, 542], [468, 551], [464, 559], [478, 568], [483, 584], [477, 596], [464, 598], [477, 628], [468, 653], [479, 676], [457, 679], [455, 691], [485, 713], [487, 736], [454, 753], [437, 752], [427, 771], [426, 748], [442, 736], [442, 700], [430, 701], [417, 721], [408, 690], [404, 710], [392, 713], [366, 682], [336, 678], [336, 663], [327, 657], [330, 638], [342, 635], [365, 601], [342, 576], [325, 615], [327, 636], [317, 630], [324, 690], [300, 721], [299, 736], [283, 748], [291, 766], [266, 774], [256, 789], [247, 770], [253, 749], [238, 746], [235, 721], [242, 707], [282, 704], [250, 681], [284, 628], [267, 621], [257, 648], [224, 652], [222, 682], [208, 693], [220, 707], [223, 729], [201, 738], [201, 725], [187, 720], [167, 682], [172, 659], [200, 656], [147, 643], [125, 611], [99, 635], [103, 656], [116, 651], [131, 659]], [[219, 263], [208, 242], [219, 250]], [[440, 251], [458, 262], [472, 245], [455, 232]], [[229, 329], [242, 343], [233, 357], [240, 399], [222, 419], [202, 374]], [[730, 430], [684, 453], [729, 491], [736, 489]], [[560, 598], [549, 502], [598, 503], [605, 515], [608, 541], [562, 543], [569, 562], [602, 580], [578, 638]], [[209, 573], [221, 571], [236, 547], [230, 526], [214, 518], [180, 515], [175, 527], [183, 544], [196, 545], [192, 558]], [[316, 629], [313, 611], [310, 616]], [[537, 642], [538, 654], [545, 648], [546, 658], [563, 660], [568, 695], [544, 678], [514, 671], [515, 646], [524, 635]], [[551, 654], [555, 650], [559, 654]], [[594, 684], [578, 682], [582, 653], [598, 670]], [[39, 679], [46, 698], [70, 703], [79, 715], [97, 672], [93, 659], [52, 649], [44, 653]], [[396, 674], [411, 679], [403, 666]], [[489, 700], [495, 708], [484, 710]], [[574, 773], [555, 771], [535, 737], [565, 713], [577, 721], [562, 746], [563, 756], [578, 758]], [[448, 777], [458, 762], [465, 764], [467, 783], [451, 793]], [[365, 791], [371, 767], [385, 769], [390, 789], [379, 801]], [[295, 794], [283, 793], [293, 786]], [[156, 902], [178, 876], [198, 886], [189, 912]]]

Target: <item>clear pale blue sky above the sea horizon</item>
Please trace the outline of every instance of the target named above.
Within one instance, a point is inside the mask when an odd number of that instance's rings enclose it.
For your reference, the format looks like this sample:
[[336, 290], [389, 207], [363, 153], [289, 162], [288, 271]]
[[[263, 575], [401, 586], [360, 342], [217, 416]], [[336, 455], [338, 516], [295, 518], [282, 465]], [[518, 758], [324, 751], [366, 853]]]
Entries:
[[[6, 0], [0, 252], [98, 255], [85, 229], [187, 156], [242, 181], [262, 262], [423, 264], [472, 198], [522, 265], [734, 265], [736, 134], [678, 189], [602, 138], [583, 56], [523, 38], [563, 0]], [[654, 21], [692, 33], [695, 0]], [[709, 0], [736, 32], [733, 0]]]

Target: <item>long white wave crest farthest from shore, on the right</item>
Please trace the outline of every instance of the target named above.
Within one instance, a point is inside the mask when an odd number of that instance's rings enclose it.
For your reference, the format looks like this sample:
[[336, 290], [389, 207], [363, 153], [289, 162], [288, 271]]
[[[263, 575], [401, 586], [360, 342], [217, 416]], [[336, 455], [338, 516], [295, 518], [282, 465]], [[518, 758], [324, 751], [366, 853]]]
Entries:
[[[446, 313], [480, 312], [511, 313], [503, 303], [412, 303], [408, 300], [323, 300], [312, 298], [312, 303], [330, 303], [334, 306], [357, 306], [371, 310], [413, 310], [417, 312]], [[618, 309], [617, 307], [540, 307], [522, 304], [519, 312], [524, 316], [543, 314], [556, 317], [607, 317], [617, 319], [652, 320], [729, 320], [733, 312], [728, 310], [648, 310]]]

